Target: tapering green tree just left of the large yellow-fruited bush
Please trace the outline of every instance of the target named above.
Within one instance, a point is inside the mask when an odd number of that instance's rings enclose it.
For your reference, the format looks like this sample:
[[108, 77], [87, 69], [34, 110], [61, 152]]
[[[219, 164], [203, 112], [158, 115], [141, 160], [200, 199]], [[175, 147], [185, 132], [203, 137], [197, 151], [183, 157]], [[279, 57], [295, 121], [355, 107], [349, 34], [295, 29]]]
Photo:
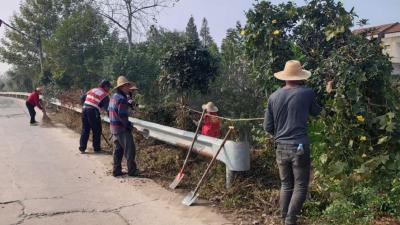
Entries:
[[230, 29], [221, 45], [220, 76], [213, 83], [213, 95], [222, 113], [231, 117], [259, 116], [263, 111], [262, 93], [252, 79], [245, 56], [241, 26]]

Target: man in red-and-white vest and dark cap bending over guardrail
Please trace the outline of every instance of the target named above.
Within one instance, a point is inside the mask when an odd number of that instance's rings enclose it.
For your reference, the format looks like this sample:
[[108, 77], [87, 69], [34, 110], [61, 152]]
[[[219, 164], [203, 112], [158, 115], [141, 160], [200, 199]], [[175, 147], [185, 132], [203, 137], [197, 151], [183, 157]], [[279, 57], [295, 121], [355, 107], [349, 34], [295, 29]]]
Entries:
[[101, 81], [99, 87], [93, 88], [88, 91], [83, 97], [82, 107], [82, 133], [79, 141], [79, 151], [84, 153], [89, 140], [90, 130], [93, 133], [93, 150], [95, 152], [101, 151], [101, 117], [102, 110], [108, 110], [110, 98], [108, 97], [112, 85], [110, 81]]

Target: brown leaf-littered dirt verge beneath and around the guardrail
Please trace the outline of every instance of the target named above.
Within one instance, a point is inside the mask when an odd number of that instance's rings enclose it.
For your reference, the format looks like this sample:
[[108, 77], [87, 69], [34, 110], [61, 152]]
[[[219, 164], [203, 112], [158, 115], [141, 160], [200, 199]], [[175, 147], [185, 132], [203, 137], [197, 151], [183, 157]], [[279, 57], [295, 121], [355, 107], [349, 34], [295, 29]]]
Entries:
[[[80, 132], [80, 114], [60, 110], [51, 113], [53, 122], [60, 122], [69, 128]], [[110, 137], [109, 125], [103, 124], [103, 134], [106, 139]], [[170, 146], [157, 140], [146, 140], [141, 135], [135, 134], [137, 145], [137, 163], [142, 171], [142, 176], [155, 180], [168, 189], [174, 180], [185, 158], [186, 149]], [[88, 145], [90, 146], [90, 145]], [[112, 154], [112, 148], [102, 138], [102, 148]], [[200, 197], [209, 201], [210, 207], [215, 207], [226, 217], [237, 221], [238, 225], [281, 224], [279, 219], [279, 180], [277, 170], [271, 162], [274, 155], [266, 151], [252, 151], [252, 169], [248, 172], [236, 174], [234, 185], [226, 189], [225, 168], [218, 164], [211, 172], [208, 181], [200, 191]], [[194, 189], [209, 158], [193, 155], [190, 158], [185, 178], [176, 192], [189, 192]], [[169, 190], [169, 189], [168, 189]], [[312, 224], [306, 218], [300, 218], [301, 224]], [[380, 218], [373, 225], [397, 225], [391, 218]]]

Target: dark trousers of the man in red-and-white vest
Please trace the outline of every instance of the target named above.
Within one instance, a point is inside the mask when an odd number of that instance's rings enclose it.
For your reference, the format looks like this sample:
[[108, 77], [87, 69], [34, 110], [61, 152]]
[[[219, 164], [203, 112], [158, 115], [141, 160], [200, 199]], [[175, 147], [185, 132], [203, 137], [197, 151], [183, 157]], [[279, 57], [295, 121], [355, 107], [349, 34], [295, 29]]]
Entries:
[[101, 118], [96, 108], [83, 108], [82, 110], [82, 132], [79, 141], [79, 150], [85, 151], [89, 140], [90, 130], [93, 133], [93, 150], [100, 151]]

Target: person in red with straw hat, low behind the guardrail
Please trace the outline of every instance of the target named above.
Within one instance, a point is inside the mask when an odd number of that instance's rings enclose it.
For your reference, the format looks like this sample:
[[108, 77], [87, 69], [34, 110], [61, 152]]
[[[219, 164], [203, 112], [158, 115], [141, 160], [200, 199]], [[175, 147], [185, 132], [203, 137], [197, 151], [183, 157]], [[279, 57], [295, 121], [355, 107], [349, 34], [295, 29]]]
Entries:
[[202, 109], [206, 110], [206, 114], [203, 118], [203, 126], [201, 128], [201, 134], [219, 138], [221, 136], [221, 119], [217, 116], [218, 108], [212, 102], [208, 102], [202, 106]]

